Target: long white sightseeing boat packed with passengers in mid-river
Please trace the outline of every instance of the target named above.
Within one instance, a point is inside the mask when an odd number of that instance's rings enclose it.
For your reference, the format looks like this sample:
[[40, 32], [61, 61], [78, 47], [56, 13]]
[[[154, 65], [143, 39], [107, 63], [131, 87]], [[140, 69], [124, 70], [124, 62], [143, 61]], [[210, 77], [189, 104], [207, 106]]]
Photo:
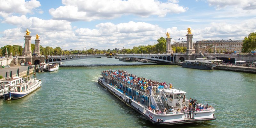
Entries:
[[[157, 82], [138, 78], [126, 71], [102, 71], [98, 83], [115, 95], [119, 100], [145, 116], [157, 125], [185, 124], [215, 120], [212, 106], [195, 102], [190, 105], [186, 92], [169, 87], [158, 86]], [[144, 83], [150, 84], [148, 89]], [[158, 87], [157, 87], [158, 86]], [[192, 101], [191, 101], [192, 102]]]

